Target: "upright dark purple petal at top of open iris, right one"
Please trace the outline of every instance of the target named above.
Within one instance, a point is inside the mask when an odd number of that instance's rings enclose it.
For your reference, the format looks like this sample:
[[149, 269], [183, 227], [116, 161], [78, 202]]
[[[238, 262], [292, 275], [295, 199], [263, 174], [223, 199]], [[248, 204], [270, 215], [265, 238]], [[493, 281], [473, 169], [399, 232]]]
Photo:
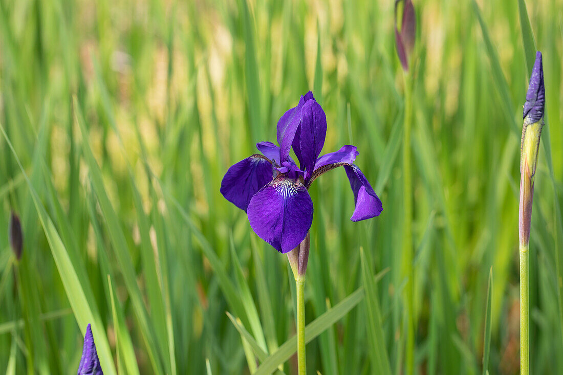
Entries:
[[[316, 159], [323, 150], [324, 139], [327, 136], [327, 116], [315, 100], [305, 102], [301, 109], [299, 133], [301, 152], [298, 157], [305, 171], [310, 174], [315, 168]], [[295, 151], [296, 148], [293, 147], [293, 150]]]

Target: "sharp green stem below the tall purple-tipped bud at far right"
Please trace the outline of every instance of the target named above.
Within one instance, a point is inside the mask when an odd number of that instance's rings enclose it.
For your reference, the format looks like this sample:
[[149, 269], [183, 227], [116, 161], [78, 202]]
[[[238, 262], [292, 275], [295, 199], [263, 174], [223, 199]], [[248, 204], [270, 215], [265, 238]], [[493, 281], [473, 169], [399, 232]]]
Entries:
[[530, 330], [529, 330], [529, 245], [520, 245], [520, 374], [530, 373]]

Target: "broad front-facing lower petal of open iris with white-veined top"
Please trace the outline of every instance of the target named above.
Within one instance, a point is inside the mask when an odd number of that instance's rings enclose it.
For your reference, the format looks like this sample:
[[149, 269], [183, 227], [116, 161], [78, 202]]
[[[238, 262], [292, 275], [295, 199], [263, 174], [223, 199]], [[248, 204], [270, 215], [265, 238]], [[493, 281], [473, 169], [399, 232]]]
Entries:
[[254, 233], [280, 253], [287, 253], [307, 235], [313, 203], [298, 179], [279, 175], [254, 194], [247, 214]]

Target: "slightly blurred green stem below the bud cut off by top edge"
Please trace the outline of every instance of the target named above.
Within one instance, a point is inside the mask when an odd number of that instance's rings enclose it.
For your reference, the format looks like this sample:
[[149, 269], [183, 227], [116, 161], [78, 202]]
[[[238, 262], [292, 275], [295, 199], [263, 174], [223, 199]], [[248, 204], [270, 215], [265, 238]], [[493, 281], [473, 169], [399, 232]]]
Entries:
[[413, 271], [413, 239], [412, 239], [412, 181], [410, 173], [410, 128], [412, 123], [412, 102], [410, 92], [410, 76], [403, 74], [405, 88], [405, 117], [403, 138], [403, 272], [406, 277], [406, 348], [405, 348], [405, 374], [412, 374], [414, 368], [414, 271]]

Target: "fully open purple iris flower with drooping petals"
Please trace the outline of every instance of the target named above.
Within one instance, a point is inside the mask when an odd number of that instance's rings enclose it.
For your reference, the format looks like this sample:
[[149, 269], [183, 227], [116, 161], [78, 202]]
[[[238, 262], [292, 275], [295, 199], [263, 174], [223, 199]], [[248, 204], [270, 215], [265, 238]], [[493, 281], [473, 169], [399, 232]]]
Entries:
[[[327, 117], [311, 91], [278, 121], [278, 144], [260, 142], [254, 154], [231, 166], [221, 182], [221, 194], [247, 212], [254, 232], [280, 253], [297, 247], [313, 220], [307, 191], [324, 172], [344, 167], [356, 208], [350, 220], [360, 221], [383, 211], [381, 200], [354, 165], [355, 146], [342, 146], [319, 157], [327, 135]], [[293, 151], [299, 166], [289, 156]]]

